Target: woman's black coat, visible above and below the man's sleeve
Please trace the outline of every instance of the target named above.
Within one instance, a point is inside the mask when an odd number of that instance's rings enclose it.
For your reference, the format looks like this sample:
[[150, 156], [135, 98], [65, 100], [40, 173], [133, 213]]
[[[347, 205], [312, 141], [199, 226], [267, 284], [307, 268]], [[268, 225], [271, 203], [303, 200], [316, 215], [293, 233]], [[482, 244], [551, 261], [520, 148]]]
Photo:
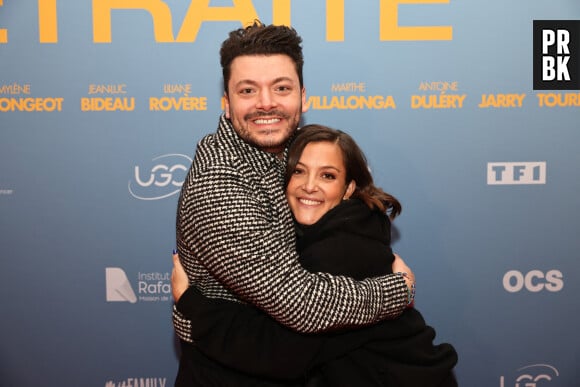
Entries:
[[[389, 219], [359, 200], [297, 225], [297, 237], [300, 264], [310, 272], [359, 280], [392, 272]], [[433, 344], [435, 331], [414, 308], [372, 326], [307, 335], [253, 306], [209, 299], [194, 287], [186, 293], [177, 307], [196, 321], [196, 346], [182, 350], [195, 364], [177, 386], [457, 386], [457, 353]]]

